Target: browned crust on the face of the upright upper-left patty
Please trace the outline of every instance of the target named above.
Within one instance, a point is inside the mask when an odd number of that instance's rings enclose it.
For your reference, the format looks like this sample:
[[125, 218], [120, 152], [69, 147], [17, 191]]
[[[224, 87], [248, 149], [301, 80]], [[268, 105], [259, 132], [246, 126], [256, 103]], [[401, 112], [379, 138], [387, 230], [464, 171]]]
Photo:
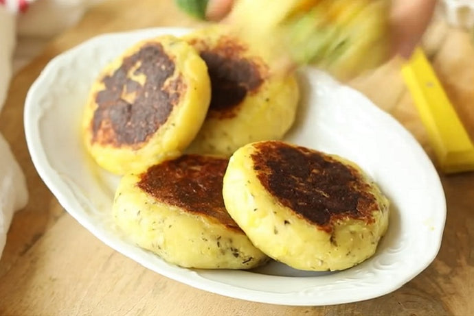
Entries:
[[[102, 78], [105, 88], [95, 95], [92, 143], [142, 147], [166, 123], [183, 95], [185, 83], [181, 74], [174, 77], [175, 71], [172, 56], [159, 42], [146, 42], [125, 56], [118, 69]], [[141, 84], [131, 75], [144, 75], [146, 80]]]

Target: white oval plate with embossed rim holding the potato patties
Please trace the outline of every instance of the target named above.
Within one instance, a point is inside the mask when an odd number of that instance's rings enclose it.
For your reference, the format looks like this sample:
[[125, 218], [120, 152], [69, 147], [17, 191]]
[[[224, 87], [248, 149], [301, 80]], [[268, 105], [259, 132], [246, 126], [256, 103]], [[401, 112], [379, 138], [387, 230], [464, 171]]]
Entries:
[[315, 70], [302, 74], [303, 98], [287, 141], [357, 162], [392, 201], [390, 227], [376, 254], [335, 273], [297, 271], [271, 263], [255, 271], [183, 269], [129, 243], [110, 210], [118, 178], [82, 147], [80, 119], [100, 69], [134, 42], [188, 29], [106, 34], [54, 58], [30, 88], [25, 133], [38, 173], [60, 204], [101, 241], [148, 269], [192, 287], [255, 302], [328, 305], [390, 293], [438, 254], [446, 217], [431, 161], [399, 123], [368, 99]]

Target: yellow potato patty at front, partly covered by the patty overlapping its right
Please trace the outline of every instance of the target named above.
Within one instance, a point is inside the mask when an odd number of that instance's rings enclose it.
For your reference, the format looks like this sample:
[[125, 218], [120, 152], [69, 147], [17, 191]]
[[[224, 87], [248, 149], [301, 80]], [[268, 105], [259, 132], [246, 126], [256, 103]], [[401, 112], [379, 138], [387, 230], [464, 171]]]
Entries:
[[181, 267], [249, 269], [267, 256], [225, 210], [227, 159], [185, 155], [122, 178], [113, 215], [134, 243]]

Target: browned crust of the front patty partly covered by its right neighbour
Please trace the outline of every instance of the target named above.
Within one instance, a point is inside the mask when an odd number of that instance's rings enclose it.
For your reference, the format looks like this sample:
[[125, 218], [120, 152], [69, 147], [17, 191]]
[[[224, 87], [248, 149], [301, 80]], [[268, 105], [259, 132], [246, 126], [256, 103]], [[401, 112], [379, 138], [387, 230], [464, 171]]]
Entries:
[[225, 158], [183, 155], [149, 167], [139, 175], [137, 186], [163, 204], [242, 232], [224, 205], [223, 177], [228, 162]]

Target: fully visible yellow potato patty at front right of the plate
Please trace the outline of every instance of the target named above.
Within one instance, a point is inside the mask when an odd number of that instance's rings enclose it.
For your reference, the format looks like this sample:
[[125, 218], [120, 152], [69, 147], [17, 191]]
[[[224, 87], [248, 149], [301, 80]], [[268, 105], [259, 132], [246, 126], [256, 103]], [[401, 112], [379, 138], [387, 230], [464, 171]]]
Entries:
[[353, 162], [278, 141], [232, 156], [223, 197], [262, 252], [302, 270], [347, 269], [372, 256], [389, 203]]

